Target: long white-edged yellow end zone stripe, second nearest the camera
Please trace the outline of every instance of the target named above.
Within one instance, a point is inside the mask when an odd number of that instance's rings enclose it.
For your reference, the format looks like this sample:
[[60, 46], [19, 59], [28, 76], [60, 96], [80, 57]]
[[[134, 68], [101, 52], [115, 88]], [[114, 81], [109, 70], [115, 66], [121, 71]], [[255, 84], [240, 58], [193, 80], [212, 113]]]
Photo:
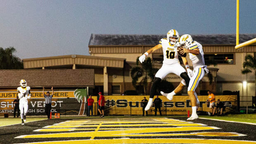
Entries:
[[[99, 125], [100, 127], [100, 125]], [[98, 127], [98, 128], [99, 128]], [[94, 132], [69, 132], [69, 133], [55, 133], [55, 134], [40, 134], [40, 135], [23, 135], [16, 138], [52, 138], [52, 137], [125, 137], [132, 135], [143, 135], [143, 133], [154, 132], [175, 132], [175, 131], [192, 131], [192, 130], [215, 130], [218, 127], [194, 126], [194, 127], [150, 127], [150, 128], [135, 128], [135, 130], [109, 130]], [[151, 134], [147, 134], [151, 135]], [[143, 135], [146, 136], [146, 135]]]

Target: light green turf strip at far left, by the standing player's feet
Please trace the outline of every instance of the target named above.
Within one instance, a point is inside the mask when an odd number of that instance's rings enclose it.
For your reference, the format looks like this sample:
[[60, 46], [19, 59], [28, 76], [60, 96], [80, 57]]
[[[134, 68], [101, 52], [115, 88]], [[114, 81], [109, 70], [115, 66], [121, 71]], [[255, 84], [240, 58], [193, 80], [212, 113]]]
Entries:
[[[47, 118], [36, 118], [36, 117], [27, 117], [26, 123], [38, 120], [46, 120]], [[0, 127], [6, 125], [15, 125], [21, 124], [21, 118], [0, 118]]]

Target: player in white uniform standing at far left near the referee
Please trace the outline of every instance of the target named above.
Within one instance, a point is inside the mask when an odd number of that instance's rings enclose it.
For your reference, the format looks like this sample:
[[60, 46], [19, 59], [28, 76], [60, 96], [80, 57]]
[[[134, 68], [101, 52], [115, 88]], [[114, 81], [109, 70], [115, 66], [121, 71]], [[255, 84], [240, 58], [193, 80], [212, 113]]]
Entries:
[[17, 88], [19, 96], [19, 109], [21, 111], [21, 125], [26, 122], [26, 114], [28, 112], [28, 99], [31, 97], [30, 87], [27, 86], [26, 80], [21, 80], [19, 82], [21, 85]]

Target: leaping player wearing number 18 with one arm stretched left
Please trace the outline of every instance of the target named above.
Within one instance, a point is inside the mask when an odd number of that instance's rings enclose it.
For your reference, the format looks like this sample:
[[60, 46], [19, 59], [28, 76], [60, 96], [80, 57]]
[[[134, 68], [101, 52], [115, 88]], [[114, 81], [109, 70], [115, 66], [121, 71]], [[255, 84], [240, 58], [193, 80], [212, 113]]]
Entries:
[[187, 75], [187, 72], [185, 71], [185, 69], [182, 66], [180, 66], [180, 62], [178, 59], [177, 46], [175, 46], [179, 38], [180, 36], [178, 31], [176, 31], [175, 29], [172, 29], [168, 31], [167, 38], [162, 38], [159, 41], [158, 45], [152, 47], [147, 52], [145, 52], [145, 54], [139, 57], [139, 60], [142, 63], [143, 61], [145, 61], [145, 58], [146, 56], [148, 56], [148, 54], [151, 54], [152, 52], [160, 48], [163, 49], [163, 54], [164, 54], [163, 65], [155, 75], [153, 84], [151, 86], [150, 94], [149, 94], [150, 95], [149, 102], [147, 103], [145, 111], [149, 110], [150, 107], [152, 106], [154, 94], [156, 93], [159, 83], [169, 73], [174, 73], [177, 76], [180, 76], [185, 80], [185, 83], [187, 83], [187, 85], [189, 84], [190, 78]]

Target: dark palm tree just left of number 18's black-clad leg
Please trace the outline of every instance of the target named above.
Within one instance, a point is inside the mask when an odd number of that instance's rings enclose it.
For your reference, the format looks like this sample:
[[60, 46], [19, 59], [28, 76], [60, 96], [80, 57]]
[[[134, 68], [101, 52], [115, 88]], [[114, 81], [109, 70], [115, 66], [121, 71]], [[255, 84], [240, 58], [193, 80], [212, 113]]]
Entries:
[[133, 87], [135, 87], [135, 88], [136, 88], [136, 83], [137, 83], [138, 79], [144, 75], [144, 77], [140, 81], [140, 85], [144, 86], [144, 92], [146, 94], [148, 93], [147, 92], [147, 86], [148, 86], [147, 81], [149, 79], [151, 79], [151, 82], [152, 82], [154, 80], [154, 74], [158, 70], [157, 68], [152, 67], [151, 61], [152, 61], [151, 58], [147, 57], [145, 59], [145, 61], [139, 66], [139, 64], [140, 64], [139, 57], [137, 57], [137, 59], [136, 59], [137, 66], [133, 67], [130, 72], [130, 75], [133, 79], [132, 84], [133, 84]]

